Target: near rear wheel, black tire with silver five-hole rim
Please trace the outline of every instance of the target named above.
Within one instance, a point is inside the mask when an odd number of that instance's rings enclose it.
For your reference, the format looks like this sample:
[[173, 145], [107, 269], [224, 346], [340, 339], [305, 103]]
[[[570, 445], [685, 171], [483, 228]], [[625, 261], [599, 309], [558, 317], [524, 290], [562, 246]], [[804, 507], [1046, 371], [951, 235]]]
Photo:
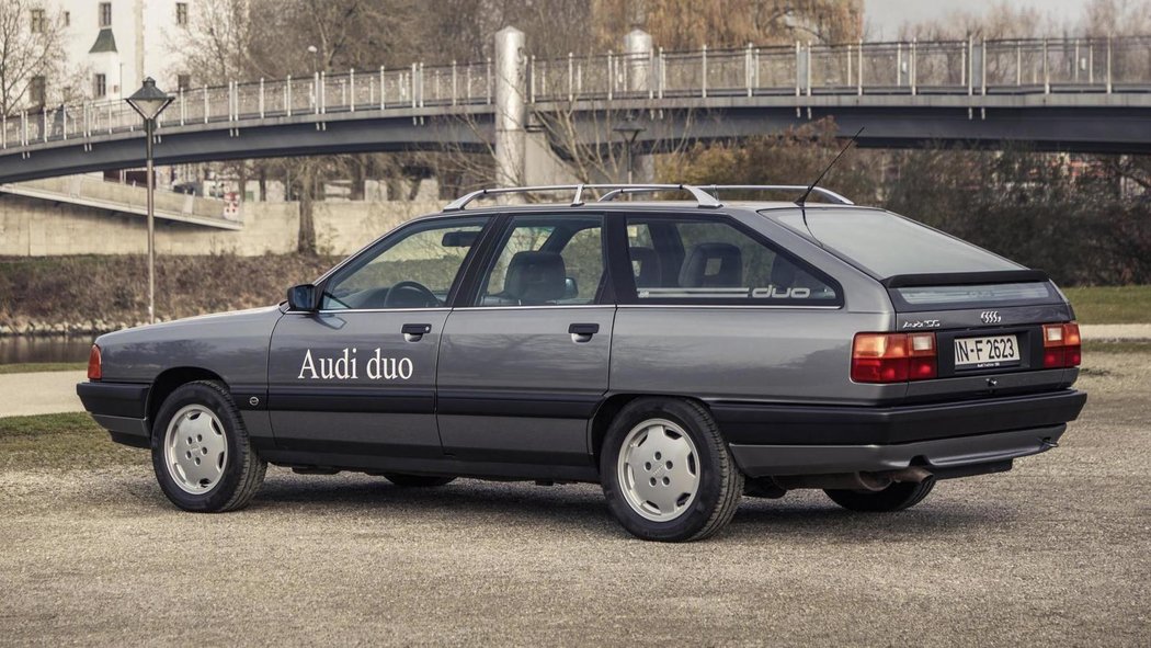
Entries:
[[744, 474], [715, 419], [680, 398], [627, 404], [604, 436], [600, 475], [619, 524], [658, 542], [715, 534], [731, 521], [744, 494]]

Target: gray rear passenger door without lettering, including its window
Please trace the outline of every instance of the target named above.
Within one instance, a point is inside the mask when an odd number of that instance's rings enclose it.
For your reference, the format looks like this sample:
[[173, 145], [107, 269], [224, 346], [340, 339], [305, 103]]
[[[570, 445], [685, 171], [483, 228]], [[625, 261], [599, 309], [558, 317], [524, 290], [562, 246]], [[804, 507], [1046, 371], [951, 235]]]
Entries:
[[587, 467], [608, 390], [615, 305], [603, 216], [506, 216], [444, 328], [444, 451], [464, 460]]

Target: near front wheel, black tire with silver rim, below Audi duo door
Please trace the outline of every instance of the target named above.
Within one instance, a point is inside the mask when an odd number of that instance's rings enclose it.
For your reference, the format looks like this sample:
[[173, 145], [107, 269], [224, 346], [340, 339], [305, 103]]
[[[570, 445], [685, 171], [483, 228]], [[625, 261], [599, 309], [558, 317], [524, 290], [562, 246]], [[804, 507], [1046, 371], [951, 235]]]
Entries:
[[268, 464], [252, 450], [223, 386], [197, 381], [177, 388], [160, 406], [152, 427], [152, 467], [173, 504], [218, 513], [247, 505]]

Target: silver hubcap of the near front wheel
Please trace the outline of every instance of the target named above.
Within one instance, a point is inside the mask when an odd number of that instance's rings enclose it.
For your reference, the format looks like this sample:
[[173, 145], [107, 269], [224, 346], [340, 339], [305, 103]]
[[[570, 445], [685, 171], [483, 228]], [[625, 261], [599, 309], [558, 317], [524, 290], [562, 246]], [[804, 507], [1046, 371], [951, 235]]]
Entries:
[[176, 486], [201, 495], [212, 490], [228, 465], [228, 437], [220, 419], [204, 405], [176, 412], [163, 437], [163, 453]]

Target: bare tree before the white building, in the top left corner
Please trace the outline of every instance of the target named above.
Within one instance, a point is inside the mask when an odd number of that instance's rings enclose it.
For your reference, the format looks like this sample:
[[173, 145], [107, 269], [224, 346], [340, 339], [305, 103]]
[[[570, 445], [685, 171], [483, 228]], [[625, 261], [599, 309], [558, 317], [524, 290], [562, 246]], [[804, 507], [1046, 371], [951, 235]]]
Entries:
[[35, 0], [0, 2], [0, 113], [70, 99], [63, 26], [59, 12]]

